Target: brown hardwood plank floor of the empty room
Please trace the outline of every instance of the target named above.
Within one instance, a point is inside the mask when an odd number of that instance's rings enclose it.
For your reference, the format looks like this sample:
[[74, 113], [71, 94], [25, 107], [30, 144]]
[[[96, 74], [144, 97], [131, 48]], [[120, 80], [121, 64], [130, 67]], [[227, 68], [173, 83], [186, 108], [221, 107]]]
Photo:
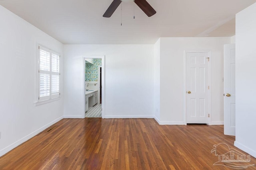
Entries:
[[[49, 132], [49, 129], [53, 128]], [[235, 138], [221, 125], [158, 125], [154, 119], [62, 119], [0, 157], [0, 170], [220, 170], [213, 145]], [[222, 153], [226, 153], [222, 149]], [[246, 156], [248, 154], [244, 153]], [[256, 158], [240, 164], [256, 164]], [[250, 166], [246, 170], [256, 169]]]

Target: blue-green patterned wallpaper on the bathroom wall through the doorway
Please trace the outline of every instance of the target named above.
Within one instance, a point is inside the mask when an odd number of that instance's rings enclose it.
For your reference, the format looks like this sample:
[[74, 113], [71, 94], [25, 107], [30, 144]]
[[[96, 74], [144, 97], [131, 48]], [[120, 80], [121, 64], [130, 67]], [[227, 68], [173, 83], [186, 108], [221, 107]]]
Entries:
[[85, 81], [97, 82], [98, 81], [98, 66], [101, 66], [101, 59], [93, 59], [93, 64], [85, 64]]

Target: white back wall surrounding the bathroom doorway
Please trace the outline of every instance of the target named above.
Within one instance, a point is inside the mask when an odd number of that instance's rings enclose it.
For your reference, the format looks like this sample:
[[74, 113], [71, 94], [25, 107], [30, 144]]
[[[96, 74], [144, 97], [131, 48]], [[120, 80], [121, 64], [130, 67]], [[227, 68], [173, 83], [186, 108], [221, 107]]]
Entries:
[[105, 55], [105, 118], [154, 117], [154, 45], [64, 45], [64, 117], [82, 117], [83, 55]]

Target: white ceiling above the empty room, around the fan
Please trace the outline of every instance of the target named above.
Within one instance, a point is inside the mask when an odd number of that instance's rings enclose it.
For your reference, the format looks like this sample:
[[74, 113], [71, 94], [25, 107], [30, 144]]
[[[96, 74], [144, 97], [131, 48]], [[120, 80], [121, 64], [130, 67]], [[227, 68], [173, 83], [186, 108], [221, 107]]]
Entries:
[[[235, 34], [235, 14], [256, 0], [147, 0], [146, 16], [134, 2], [110, 18], [112, 0], [1, 0], [4, 6], [63, 44], [154, 44], [159, 37], [225, 37]], [[135, 13], [135, 19], [133, 19]]]

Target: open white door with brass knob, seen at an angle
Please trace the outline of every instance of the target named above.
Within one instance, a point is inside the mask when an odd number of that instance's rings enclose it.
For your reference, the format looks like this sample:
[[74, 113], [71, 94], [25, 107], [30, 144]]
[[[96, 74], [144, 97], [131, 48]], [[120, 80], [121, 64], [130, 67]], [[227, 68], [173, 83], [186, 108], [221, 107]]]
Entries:
[[235, 44], [224, 45], [224, 134], [236, 134]]

